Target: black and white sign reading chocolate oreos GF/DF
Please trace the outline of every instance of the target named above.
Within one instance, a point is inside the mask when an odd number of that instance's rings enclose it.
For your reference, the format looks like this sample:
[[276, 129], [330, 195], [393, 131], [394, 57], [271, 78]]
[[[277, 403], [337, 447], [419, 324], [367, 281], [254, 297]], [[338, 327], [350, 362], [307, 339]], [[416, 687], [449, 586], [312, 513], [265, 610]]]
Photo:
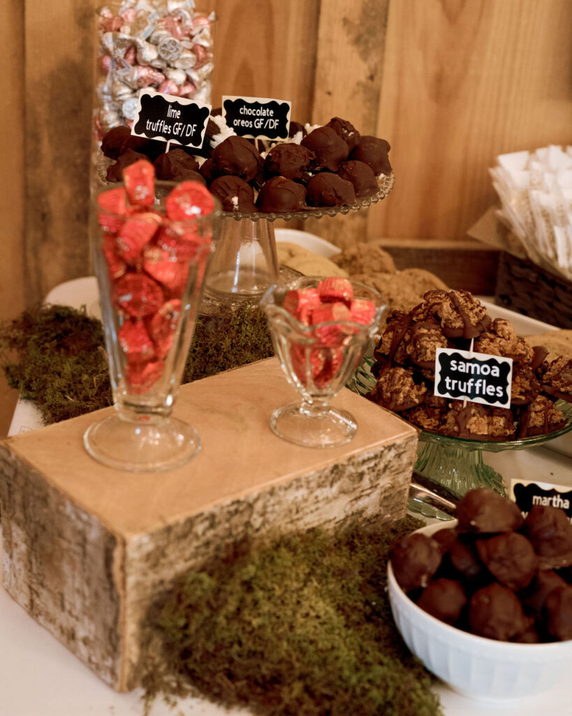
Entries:
[[222, 116], [240, 137], [286, 140], [291, 102], [260, 97], [222, 97]]

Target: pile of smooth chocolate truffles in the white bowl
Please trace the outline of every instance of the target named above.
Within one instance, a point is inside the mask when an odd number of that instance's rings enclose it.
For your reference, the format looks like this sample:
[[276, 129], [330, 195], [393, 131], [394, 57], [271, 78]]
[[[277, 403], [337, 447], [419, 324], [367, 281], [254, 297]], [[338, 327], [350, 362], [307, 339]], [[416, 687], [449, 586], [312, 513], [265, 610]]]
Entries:
[[458, 526], [390, 548], [395, 579], [436, 619], [503, 642], [572, 639], [572, 525], [566, 512], [470, 490]]

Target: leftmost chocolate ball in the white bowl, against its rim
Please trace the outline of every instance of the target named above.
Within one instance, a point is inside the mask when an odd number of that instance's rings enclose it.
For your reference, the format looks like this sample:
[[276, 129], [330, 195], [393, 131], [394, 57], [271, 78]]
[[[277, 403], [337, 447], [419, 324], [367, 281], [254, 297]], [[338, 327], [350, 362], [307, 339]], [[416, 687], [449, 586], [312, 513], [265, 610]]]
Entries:
[[389, 557], [395, 579], [404, 591], [425, 588], [441, 563], [438, 543], [421, 532], [394, 542]]

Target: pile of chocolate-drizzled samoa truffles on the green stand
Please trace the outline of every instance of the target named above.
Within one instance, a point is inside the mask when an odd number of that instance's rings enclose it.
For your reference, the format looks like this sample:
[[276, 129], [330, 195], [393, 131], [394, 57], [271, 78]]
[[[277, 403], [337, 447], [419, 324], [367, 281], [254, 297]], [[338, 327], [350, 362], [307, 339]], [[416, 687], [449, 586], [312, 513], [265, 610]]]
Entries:
[[[435, 396], [438, 348], [513, 359], [511, 407]], [[548, 362], [505, 319], [490, 319], [468, 291], [428, 291], [411, 311], [393, 311], [374, 352], [377, 382], [366, 397], [430, 432], [471, 440], [511, 440], [559, 430], [567, 418], [558, 399], [572, 402], [572, 357]]]

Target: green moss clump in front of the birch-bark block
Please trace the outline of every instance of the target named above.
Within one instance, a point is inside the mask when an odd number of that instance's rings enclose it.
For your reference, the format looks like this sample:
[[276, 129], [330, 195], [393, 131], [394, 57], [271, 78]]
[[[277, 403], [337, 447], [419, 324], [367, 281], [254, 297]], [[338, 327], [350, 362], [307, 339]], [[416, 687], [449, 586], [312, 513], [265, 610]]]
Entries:
[[388, 546], [415, 526], [312, 530], [184, 575], [149, 615], [147, 695], [197, 690], [267, 716], [440, 714], [385, 593]]

